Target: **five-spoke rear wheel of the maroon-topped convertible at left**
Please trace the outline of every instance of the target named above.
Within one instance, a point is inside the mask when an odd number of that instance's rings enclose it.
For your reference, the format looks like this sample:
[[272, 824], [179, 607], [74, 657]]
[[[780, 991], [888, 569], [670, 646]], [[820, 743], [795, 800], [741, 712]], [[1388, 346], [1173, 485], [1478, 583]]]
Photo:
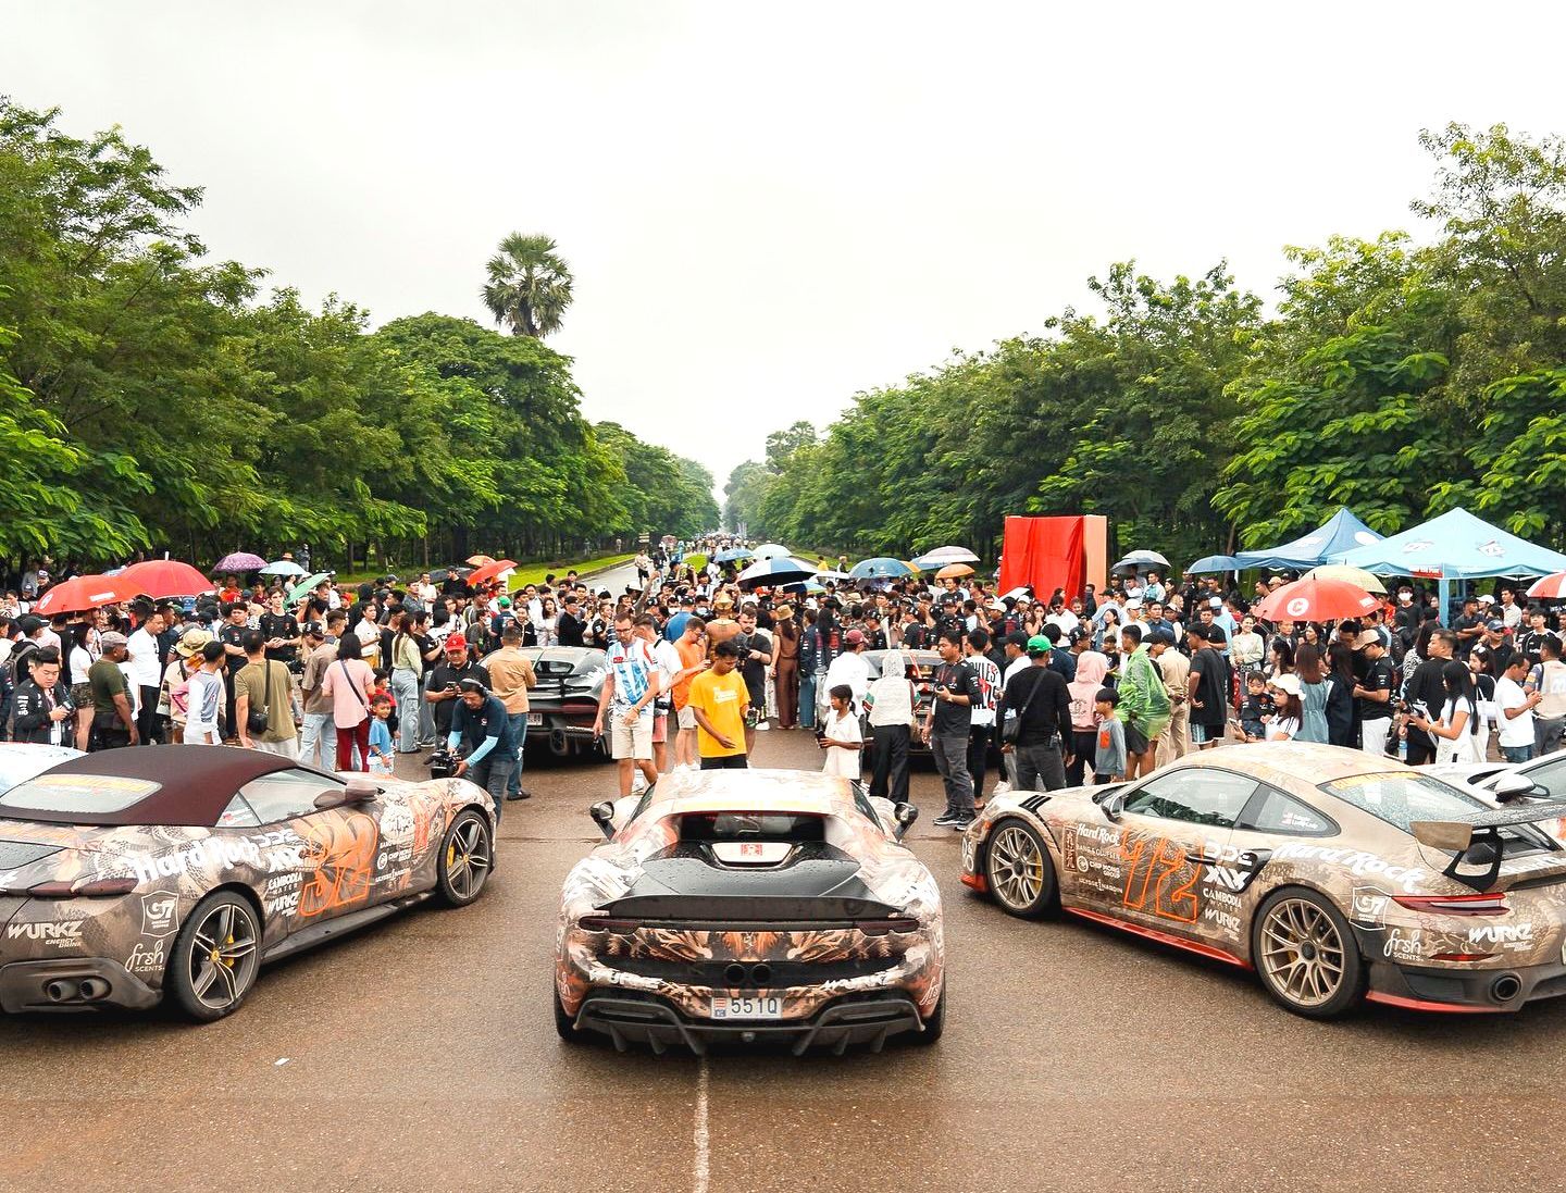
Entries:
[[185, 921], [163, 982], [180, 1010], [207, 1022], [240, 1008], [260, 968], [260, 916], [243, 896], [219, 891]]

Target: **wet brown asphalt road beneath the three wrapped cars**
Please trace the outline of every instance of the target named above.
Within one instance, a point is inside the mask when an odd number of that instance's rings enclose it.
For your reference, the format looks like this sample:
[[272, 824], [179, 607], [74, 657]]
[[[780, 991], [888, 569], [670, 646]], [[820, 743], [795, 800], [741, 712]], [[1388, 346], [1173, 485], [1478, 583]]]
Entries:
[[[819, 766], [803, 733], [763, 766]], [[1225, 966], [1085, 924], [1024, 924], [941, 880], [935, 1047], [705, 1061], [557, 1040], [561, 880], [604, 766], [529, 755], [500, 869], [263, 972], [233, 1018], [0, 1022], [0, 1190], [1503, 1190], [1553, 1188], [1566, 1004], [1513, 1018], [1381, 1008], [1319, 1025]]]

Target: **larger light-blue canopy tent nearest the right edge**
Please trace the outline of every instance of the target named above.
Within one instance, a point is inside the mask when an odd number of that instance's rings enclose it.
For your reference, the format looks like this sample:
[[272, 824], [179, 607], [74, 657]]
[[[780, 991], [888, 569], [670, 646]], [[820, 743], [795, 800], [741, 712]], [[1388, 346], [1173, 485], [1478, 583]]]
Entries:
[[1485, 576], [1549, 576], [1566, 570], [1566, 556], [1538, 546], [1453, 509], [1369, 546], [1342, 551], [1334, 564], [1364, 568], [1378, 576], [1425, 576], [1441, 582], [1441, 620], [1445, 622], [1452, 581]]

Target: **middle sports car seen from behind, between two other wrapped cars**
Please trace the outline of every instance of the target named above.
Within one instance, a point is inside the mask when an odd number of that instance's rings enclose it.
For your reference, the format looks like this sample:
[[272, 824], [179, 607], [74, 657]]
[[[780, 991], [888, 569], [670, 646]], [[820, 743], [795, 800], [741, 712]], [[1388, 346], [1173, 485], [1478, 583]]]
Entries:
[[655, 1052], [941, 1035], [941, 897], [900, 814], [846, 778], [708, 770], [592, 808], [565, 878], [554, 1024]]

